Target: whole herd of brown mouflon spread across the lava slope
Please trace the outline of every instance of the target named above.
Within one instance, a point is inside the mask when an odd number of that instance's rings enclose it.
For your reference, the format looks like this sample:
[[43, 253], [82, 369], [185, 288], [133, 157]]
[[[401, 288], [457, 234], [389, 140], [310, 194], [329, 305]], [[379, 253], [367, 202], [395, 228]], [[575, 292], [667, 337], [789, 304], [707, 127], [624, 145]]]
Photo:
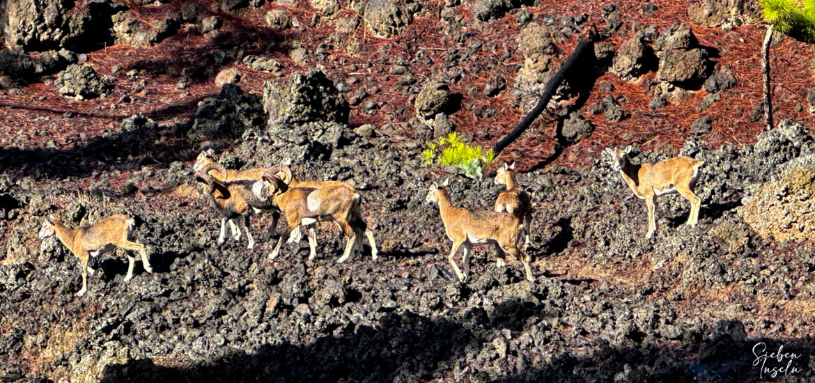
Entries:
[[[677, 156], [655, 164], [632, 164], [628, 158], [630, 147], [625, 149], [606, 148], [602, 156], [609, 161], [611, 169], [623, 178], [637, 198], [645, 200], [648, 212], [646, 238], [656, 231], [655, 207], [659, 196], [680, 194], [690, 201], [688, 225], [698, 222], [701, 200], [694, 194], [703, 161], [695, 161], [689, 156]], [[255, 241], [249, 231], [249, 218], [254, 214], [272, 214], [271, 228], [275, 230], [280, 215], [286, 221], [286, 230], [280, 234], [270, 259], [280, 253], [284, 238], [288, 242], [302, 238], [300, 227], [306, 231], [310, 248], [309, 259], [316, 256], [317, 240], [315, 227], [318, 222], [334, 222], [345, 235], [346, 247], [337, 262], [345, 262], [355, 252], [363, 252], [363, 236], [368, 239], [371, 257], [377, 259], [377, 244], [373, 232], [368, 229], [361, 211], [361, 196], [350, 183], [341, 181], [298, 181], [286, 165], [253, 169], [226, 169], [218, 163], [218, 157], [210, 149], [201, 152], [189, 172], [199, 186], [199, 190], [209, 198], [214, 209], [220, 214], [221, 225], [218, 244], [227, 237], [227, 222], [235, 240], [242, 236], [241, 227], [253, 249]], [[462, 265], [469, 270], [468, 258], [473, 244], [494, 244], [496, 266], [505, 265], [504, 256], [509, 253], [523, 265], [526, 280], [535, 281], [530, 269], [531, 257], [524, 248], [530, 244], [533, 201], [515, 175], [515, 166], [502, 165], [496, 173], [496, 184], [506, 187], [496, 198], [495, 207], [488, 209], [465, 209], [452, 205], [447, 186], [432, 183], [425, 201], [438, 204], [439, 213], [447, 237], [452, 240], [448, 260], [458, 279], [464, 283], [468, 275], [456, 263], [456, 254], [463, 252]], [[96, 257], [120, 248], [128, 253], [128, 269], [125, 281], [133, 277], [135, 257], [139, 253], [143, 267], [152, 273], [148, 261], [148, 249], [143, 244], [133, 242], [134, 219], [125, 214], [115, 214], [103, 218], [90, 227], [72, 229], [66, 227], [53, 215], [42, 223], [39, 239], [56, 236], [80, 260], [82, 288], [77, 292], [81, 297], [87, 292], [87, 275], [94, 269], [88, 266], [90, 256]], [[523, 235], [523, 236], [522, 236]]]

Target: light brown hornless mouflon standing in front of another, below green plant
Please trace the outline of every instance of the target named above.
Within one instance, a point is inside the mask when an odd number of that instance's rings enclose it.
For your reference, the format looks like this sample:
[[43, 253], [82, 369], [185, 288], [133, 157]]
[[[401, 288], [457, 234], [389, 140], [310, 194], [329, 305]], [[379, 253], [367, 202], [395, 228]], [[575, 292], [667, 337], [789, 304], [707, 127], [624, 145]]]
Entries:
[[[518, 232], [521, 230], [521, 222], [512, 214], [498, 213], [492, 210], [471, 210], [453, 206], [450, 196], [447, 194], [447, 184], [449, 179], [438, 185], [433, 183], [427, 192], [425, 201], [430, 204], [438, 204], [438, 210], [444, 223], [444, 231], [447, 237], [453, 241], [450, 256], [447, 258], [456, 271], [461, 282], [467, 280], [467, 275], [461, 272], [456, 265], [455, 257], [459, 248], [464, 249], [462, 264], [467, 268], [469, 250], [473, 244], [496, 244], [499, 258], [504, 257], [504, 253], [509, 253], [523, 264], [526, 273], [526, 280], [535, 282], [532, 271], [529, 267], [530, 257], [518, 248]], [[500, 262], [502, 264], [503, 262]]]

